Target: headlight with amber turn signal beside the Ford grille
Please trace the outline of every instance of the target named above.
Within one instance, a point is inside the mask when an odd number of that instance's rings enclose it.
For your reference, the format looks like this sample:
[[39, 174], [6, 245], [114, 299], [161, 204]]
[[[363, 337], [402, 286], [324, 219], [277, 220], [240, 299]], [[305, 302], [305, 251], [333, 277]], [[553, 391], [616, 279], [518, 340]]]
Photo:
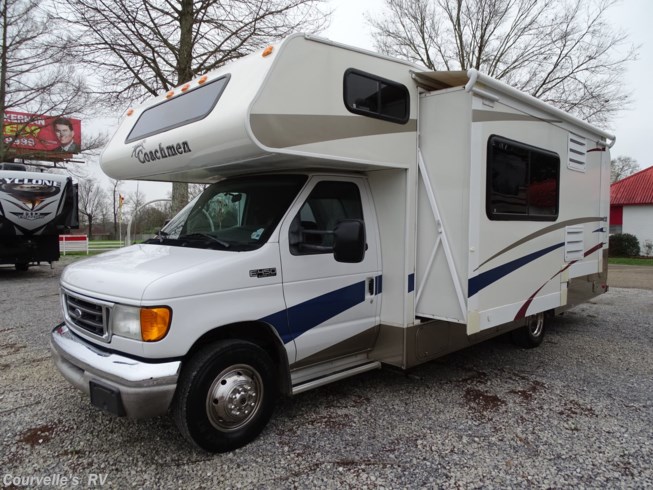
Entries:
[[114, 305], [111, 331], [115, 335], [145, 342], [156, 342], [168, 334], [172, 310], [167, 306], [136, 308]]

